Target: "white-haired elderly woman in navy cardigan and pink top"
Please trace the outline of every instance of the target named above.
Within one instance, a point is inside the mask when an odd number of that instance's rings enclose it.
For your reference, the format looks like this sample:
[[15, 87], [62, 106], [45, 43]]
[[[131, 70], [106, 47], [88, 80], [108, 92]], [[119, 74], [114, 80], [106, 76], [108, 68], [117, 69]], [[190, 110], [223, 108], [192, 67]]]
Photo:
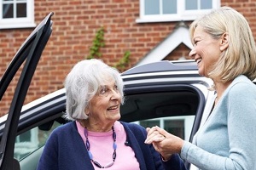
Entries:
[[83, 60], [67, 75], [65, 87], [73, 121], [51, 133], [38, 170], [185, 169], [179, 156], [163, 162], [144, 144], [144, 127], [118, 121], [124, 101], [119, 71], [99, 59]]

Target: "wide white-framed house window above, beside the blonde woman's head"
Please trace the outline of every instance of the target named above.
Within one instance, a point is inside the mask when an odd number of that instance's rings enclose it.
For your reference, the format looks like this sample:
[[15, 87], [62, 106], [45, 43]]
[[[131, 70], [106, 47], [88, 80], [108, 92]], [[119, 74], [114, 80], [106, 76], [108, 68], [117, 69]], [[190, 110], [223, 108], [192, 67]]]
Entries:
[[220, 0], [140, 0], [137, 23], [195, 20], [218, 7]]

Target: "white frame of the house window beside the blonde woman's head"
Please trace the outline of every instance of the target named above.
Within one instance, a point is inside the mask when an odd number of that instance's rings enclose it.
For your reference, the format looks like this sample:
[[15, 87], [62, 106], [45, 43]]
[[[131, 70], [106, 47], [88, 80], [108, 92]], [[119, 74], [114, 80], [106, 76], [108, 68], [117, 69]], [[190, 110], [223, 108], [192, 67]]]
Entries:
[[[147, 0], [140, 0], [140, 17], [136, 20], [137, 23], [148, 22], [168, 22], [181, 20], [195, 20], [201, 14], [205, 14], [211, 9], [200, 10], [185, 10], [185, 0], [177, 0], [177, 14], [147, 14], [145, 15], [144, 3]], [[162, 0], [157, 0], [162, 2]], [[220, 0], [212, 0], [212, 8], [219, 8]]]

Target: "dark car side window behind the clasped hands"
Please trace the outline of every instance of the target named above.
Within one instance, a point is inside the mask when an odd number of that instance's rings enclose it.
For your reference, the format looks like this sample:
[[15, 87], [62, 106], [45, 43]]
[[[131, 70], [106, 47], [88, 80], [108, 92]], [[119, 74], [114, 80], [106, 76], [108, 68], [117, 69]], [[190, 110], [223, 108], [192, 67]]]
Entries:
[[191, 141], [201, 123], [205, 96], [192, 85], [152, 83], [125, 87], [121, 120], [143, 127], [158, 125]]

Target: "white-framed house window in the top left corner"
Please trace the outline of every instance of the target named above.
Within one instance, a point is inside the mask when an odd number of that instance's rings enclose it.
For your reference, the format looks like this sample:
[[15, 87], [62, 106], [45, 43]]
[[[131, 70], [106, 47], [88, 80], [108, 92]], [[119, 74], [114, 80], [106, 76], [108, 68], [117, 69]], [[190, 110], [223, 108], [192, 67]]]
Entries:
[[0, 29], [36, 26], [33, 0], [2, 0], [0, 2]]

